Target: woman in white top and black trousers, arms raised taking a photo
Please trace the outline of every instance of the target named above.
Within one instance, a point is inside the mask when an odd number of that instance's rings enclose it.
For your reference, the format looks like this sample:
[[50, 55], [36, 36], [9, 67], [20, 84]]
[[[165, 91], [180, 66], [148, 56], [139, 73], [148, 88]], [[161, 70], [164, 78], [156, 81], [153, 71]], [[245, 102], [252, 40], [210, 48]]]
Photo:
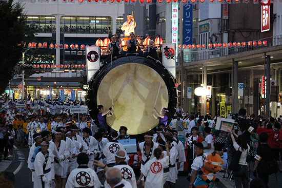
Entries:
[[[237, 136], [235, 134], [234, 130], [229, 131], [233, 146], [236, 149], [236, 151], [242, 152], [240, 160], [239, 160], [239, 170], [238, 171], [232, 171], [232, 174], [235, 179], [235, 186], [236, 188], [241, 188], [243, 184], [243, 188], [249, 187], [249, 181], [248, 181], [248, 163], [247, 163], [247, 156], [250, 151], [250, 146], [247, 143], [246, 138], [243, 135]], [[235, 137], [237, 137], [237, 142], [235, 140]]]

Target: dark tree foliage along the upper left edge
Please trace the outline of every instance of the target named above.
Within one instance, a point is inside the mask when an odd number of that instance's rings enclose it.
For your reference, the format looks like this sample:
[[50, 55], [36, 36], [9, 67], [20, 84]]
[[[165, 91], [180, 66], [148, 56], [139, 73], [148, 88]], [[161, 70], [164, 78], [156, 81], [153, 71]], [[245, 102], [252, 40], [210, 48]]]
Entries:
[[23, 42], [34, 36], [34, 31], [26, 25], [21, 4], [0, 1], [0, 12], [0, 93], [3, 93], [13, 77], [14, 67], [22, 61]]

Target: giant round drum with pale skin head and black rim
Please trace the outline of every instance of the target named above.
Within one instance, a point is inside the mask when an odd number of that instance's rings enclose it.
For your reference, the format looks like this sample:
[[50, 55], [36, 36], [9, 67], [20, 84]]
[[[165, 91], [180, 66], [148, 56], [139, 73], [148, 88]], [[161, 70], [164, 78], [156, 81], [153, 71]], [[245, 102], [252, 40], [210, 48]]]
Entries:
[[177, 96], [173, 77], [159, 61], [143, 55], [114, 58], [100, 66], [89, 82], [91, 117], [96, 119], [97, 105], [110, 107], [113, 103], [114, 115], [107, 117], [108, 125], [117, 131], [126, 126], [130, 135], [145, 133], [158, 124], [152, 116], [155, 100], [158, 111], [166, 107], [174, 114]]

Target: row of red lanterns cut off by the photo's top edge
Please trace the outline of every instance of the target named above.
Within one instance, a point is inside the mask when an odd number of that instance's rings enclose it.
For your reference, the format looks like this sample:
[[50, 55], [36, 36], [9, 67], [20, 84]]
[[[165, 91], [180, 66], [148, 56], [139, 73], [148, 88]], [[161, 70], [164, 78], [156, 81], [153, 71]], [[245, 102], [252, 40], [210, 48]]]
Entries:
[[[27, 1], [27, 0], [22, 0], [22, 1]], [[47, 0], [48, 1], [48, 0]], [[59, 0], [52, 0], [52, 1], [50, 1], [50, 2], [56, 2], [56, 1], [59, 1]], [[106, 3], [108, 0], [77, 0], [79, 3], [83, 3], [83, 2], [95, 2], [95, 3], [98, 3], [99, 1], [100, 2], [103, 2], [103, 3]], [[218, 1], [218, 2], [227, 2], [227, 3], [231, 3], [232, 2], [232, 0], [206, 0], [206, 1], [208, 1], [208, 2], [210, 2], [210, 3], [215, 3], [216, 1]], [[234, 3], [240, 3], [240, 2], [249, 2], [249, 1], [251, 1], [251, 0], [233, 0], [233, 2]], [[67, 1], [67, 0], [63, 0], [63, 2], [75, 2], [74, 0], [69, 0], [69, 1]], [[136, 3], [137, 2], [137, 0], [109, 0], [109, 2], [110, 3], [121, 3], [121, 2], [124, 2], [124, 3]], [[138, 2], [140, 3], [140, 4], [143, 4], [143, 3], [148, 3], [148, 4], [151, 4], [152, 3], [152, 0], [138, 0]], [[157, 2], [158, 3], [165, 3], [165, 2], [167, 2], [167, 3], [172, 3], [172, 2], [178, 2], [178, 0], [166, 0], [166, 1], [164, 1], [164, 0], [157, 0]], [[188, 2], [190, 2], [190, 3], [192, 3], [192, 4], [195, 4], [195, 3], [197, 3], [197, 0], [179, 0], [179, 2], [182, 2], [182, 3], [188, 3]], [[204, 3], [205, 2], [205, 0], [198, 0], [198, 2], [200, 2], [200, 3]], [[34, 2], [32, 2], [32, 3], [35, 3], [35, 1]], [[257, 4], [258, 3], [258, 0], [253, 0], [253, 3], [254, 4]]]

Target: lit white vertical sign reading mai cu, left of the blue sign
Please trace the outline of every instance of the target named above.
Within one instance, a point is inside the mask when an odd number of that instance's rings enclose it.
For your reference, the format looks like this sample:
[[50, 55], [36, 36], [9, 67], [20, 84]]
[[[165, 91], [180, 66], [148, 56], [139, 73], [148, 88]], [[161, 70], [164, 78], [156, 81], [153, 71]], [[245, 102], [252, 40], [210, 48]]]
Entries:
[[171, 43], [178, 46], [178, 2], [172, 2], [171, 6]]

